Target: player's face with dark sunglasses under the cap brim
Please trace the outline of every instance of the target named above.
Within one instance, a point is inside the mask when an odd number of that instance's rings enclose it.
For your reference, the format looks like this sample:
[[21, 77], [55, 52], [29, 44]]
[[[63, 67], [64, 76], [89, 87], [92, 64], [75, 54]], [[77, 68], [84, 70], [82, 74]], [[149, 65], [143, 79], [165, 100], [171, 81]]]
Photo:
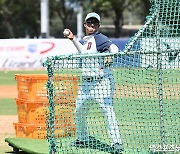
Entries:
[[99, 29], [99, 21], [96, 18], [89, 18], [84, 23], [86, 35], [94, 34]]

